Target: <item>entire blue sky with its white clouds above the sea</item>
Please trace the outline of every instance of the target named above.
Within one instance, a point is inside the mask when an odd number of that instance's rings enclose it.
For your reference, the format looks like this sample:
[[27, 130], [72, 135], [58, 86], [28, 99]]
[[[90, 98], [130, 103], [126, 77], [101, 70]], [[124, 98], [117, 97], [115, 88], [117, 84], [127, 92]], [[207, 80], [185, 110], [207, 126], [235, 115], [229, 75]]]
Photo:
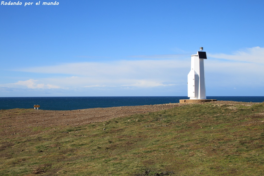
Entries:
[[0, 5], [0, 97], [187, 96], [200, 47], [207, 96], [264, 96], [264, 1], [19, 2]]

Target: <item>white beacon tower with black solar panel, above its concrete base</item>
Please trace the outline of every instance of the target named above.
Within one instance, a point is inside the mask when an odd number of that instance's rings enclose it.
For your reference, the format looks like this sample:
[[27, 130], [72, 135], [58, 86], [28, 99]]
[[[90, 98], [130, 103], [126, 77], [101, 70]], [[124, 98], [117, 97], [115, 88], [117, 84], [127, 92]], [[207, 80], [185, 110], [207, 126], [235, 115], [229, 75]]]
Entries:
[[207, 59], [204, 51], [197, 51], [197, 54], [191, 55], [191, 71], [188, 74], [188, 97], [190, 99], [206, 99], [204, 59]]

